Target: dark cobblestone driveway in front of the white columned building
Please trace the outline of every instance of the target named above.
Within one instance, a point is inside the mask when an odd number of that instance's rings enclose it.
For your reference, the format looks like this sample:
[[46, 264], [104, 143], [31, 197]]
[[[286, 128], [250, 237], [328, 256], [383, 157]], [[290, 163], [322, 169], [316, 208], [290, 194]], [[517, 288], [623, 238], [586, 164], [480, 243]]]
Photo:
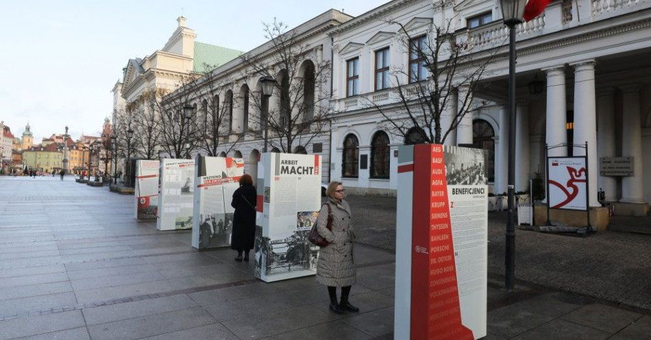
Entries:
[[[395, 198], [348, 201], [358, 241], [395, 250]], [[504, 226], [506, 213], [489, 214], [491, 274], [504, 274]], [[515, 237], [520, 280], [651, 310], [651, 235], [606, 231], [584, 239], [517, 230]]]

